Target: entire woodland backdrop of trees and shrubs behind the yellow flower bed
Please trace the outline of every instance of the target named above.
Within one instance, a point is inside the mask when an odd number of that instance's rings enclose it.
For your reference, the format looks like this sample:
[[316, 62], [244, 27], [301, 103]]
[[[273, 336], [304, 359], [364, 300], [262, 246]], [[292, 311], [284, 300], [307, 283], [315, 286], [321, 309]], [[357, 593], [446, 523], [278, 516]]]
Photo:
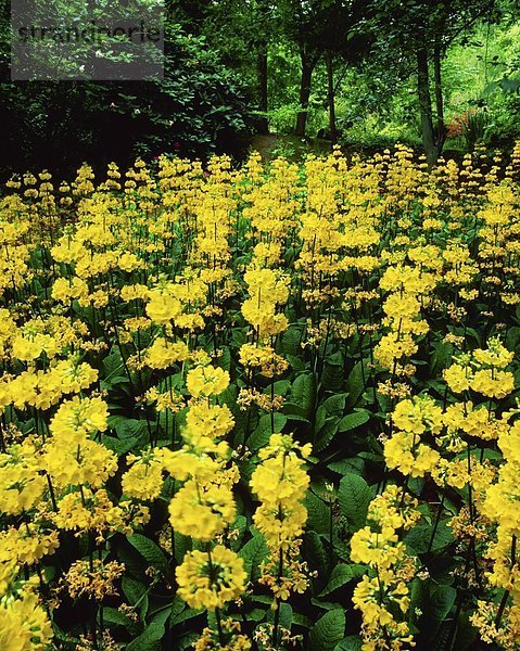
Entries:
[[[68, 17], [104, 7], [51, 1]], [[401, 141], [430, 162], [520, 137], [518, 0], [166, 2], [155, 81], [12, 82], [2, 8], [2, 178], [42, 168], [69, 178], [85, 161], [102, 169], [163, 153], [241, 159], [255, 133], [288, 155], [318, 137], [318, 151]]]

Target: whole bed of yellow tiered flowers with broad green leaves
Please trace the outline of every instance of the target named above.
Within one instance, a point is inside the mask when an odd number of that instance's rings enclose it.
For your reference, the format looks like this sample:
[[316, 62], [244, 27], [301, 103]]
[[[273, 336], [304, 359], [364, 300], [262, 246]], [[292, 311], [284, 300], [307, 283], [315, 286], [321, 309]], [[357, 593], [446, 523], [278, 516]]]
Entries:
[[0, 647], [518, 648], [519, 182], [520, 144], [11, 180]]

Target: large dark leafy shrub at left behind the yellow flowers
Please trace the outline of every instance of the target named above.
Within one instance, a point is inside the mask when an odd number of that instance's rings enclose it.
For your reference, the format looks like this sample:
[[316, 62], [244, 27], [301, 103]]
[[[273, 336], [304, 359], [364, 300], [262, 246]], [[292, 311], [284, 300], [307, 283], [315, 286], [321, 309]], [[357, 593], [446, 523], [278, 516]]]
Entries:
[[0, 116], [10, 129], [0, 171], [46, 167], [69, 177], [87, 158], [101, 170], [163, 153], [242, 155], [246, 94], [204, 37], [170, 25], [164, 66], [154, 81], [3, 84]]

